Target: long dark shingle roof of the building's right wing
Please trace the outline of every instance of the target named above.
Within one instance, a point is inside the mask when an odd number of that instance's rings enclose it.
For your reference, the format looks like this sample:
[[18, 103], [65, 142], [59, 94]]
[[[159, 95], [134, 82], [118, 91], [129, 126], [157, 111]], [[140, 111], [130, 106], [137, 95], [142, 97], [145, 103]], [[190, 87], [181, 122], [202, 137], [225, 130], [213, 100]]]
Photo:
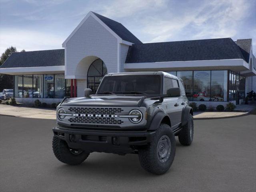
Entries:
[[231, 38], [134, 44], [126, 63], [244, 59]]

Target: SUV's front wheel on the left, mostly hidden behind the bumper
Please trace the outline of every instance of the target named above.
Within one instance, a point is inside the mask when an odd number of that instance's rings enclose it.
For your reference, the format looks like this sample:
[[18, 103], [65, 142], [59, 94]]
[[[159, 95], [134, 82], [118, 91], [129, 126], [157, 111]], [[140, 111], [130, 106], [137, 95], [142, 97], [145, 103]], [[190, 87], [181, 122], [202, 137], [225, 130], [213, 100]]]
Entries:
[[80, 149], [69, 148], [64, 140], [61, 140], [56, 136], [52, 139], [52, 150], [59, 161], [69, 165], [81, 164], [90, 154]]

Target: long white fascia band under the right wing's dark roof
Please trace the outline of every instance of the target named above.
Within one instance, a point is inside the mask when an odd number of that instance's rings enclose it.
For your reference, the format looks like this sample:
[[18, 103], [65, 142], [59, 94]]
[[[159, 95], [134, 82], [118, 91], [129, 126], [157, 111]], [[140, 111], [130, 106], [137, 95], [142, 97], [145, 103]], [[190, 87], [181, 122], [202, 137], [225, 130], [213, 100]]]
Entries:
[[[210, 68], [210, 67], [240, 67], [242, 70], [247, 70], [249, 65], [242, 59], [227, 59], [227, 60], [199, 60], [199, 61], [172, 61], [172, 62], [147, 62], [147, 63], [125, 63], [124, 69], [138, 70], [138, 69], [152, 69], [158, 70], [160, 68], [167, 69], [183, 69], [186, 68]], [[240, 70], [241, 70], [240, 69]]]

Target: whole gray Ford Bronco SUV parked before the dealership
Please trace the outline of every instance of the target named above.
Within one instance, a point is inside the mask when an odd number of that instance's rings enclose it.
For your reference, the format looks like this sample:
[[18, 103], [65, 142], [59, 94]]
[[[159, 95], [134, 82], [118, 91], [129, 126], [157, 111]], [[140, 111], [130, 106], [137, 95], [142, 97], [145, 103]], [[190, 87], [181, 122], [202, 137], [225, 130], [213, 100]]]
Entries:
[[166, 72], [107, 74], [96, 94], [64, 98], [57, 107], [52, 148], [77, 165], [91, 152], [138, 154], [148, 172], [164, 174], [176, 150], [193, 140], [193, 110], [180, 78]]

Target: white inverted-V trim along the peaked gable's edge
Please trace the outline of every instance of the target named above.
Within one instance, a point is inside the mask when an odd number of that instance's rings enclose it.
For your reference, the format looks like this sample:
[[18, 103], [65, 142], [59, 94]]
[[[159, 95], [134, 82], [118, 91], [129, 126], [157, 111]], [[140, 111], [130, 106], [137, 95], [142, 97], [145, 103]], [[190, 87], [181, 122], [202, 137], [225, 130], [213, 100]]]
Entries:
[[96, 21], [98, 21], [106, 30], [108, 30], [114, 37], [117, 38], [118, 43], [122, 42], [122, 39], [112, 30], [110, 29], [100, 18], [98, 18], [96, 15], [94, 15], [93, 12], [89, 12], [84, 19], [78, 24], [78, 26], [72, 31], [72, 33], [68, 36], [68, 38], [62, 43], [62, 47], [66, 47], [67, 42], [70, 40], [70, 38], [78, 31], [78, 29], [84, 24], [84, 22], [89, 18], [89, 16], [92, 16]]

